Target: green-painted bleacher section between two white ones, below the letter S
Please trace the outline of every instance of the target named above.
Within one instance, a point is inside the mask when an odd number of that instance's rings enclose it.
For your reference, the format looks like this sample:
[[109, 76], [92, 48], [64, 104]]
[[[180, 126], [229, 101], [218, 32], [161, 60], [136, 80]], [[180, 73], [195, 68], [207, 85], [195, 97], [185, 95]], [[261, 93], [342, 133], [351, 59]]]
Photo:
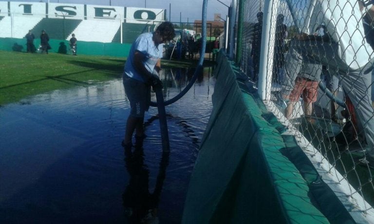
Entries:
[[43, 18], [32, 31], [36, 36], [45, 30], [51, 39], [66, 39], [81, 22], [80, 19]]

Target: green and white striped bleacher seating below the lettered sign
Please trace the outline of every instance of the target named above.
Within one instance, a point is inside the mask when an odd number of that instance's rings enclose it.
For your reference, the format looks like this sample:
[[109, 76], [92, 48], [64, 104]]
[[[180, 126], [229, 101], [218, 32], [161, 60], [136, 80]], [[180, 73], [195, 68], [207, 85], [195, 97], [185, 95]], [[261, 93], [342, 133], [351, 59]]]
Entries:
[[[108, 19], [13, 17], [12, 21], [12, 17], [1, 16], [0, 37], [24, 38], [31, 30], [35, 37], [39, 38], [41, 31], [45, 30], [51, 39], [69, 40], [71, 34], [75, 33], [79, 41], [120, 43], [120, 26], [120, 21]], [[152, 32], [154, 27], [154, 24], [122, 23], [122, 42], [131, 44], [139, 34]]]

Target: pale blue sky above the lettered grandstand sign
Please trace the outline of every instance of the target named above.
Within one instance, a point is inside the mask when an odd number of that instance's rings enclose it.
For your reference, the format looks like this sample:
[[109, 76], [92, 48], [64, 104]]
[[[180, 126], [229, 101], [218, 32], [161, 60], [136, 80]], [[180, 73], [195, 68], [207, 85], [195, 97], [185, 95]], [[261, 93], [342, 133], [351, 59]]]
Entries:
[[[8, 1], [8, 0], [0, 0]], [[12, 0], [15, 1], [15, 0]], [[16, 0], [23, 2], [35, 2], [39, 0]], [[48, 2], [48, 0], [42, 0]], [[226, 5], [230, 5], [231, 0], [220, 0]], [[171, 21], [179, 22], [182, 17], [182, 22], [193, 22], [195, 19], [201, 19], [203, 0], [49, 0], [51, 3], [74, 3], [74, 4], [91, 4], [91, 5], [109, 5], [113, 6], [128, 6], [128, 7], [145, 7], [167, 9], [167, 17], [169, 18], [169, 5], [171, 4]], [[227, 15], [227, 7], [217, 0], [208, 0], [207, 19], [213, 20], [214, 14], [221, 14], [222, 18]], [[180, 13], [182, 12], [182, 15]]]

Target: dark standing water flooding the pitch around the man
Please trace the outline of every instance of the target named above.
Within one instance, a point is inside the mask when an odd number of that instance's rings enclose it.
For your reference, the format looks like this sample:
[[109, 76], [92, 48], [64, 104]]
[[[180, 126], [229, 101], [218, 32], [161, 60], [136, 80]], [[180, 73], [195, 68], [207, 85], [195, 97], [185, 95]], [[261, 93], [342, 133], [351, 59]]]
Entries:
[[[129, 223], [143, 215], [180, 223], [212, 109], [210, 71], [166, 107], [169, 154], [162, 153], [155, 107], [146, 112], [143, 147], [124, 152], [130, 103], [122, 79], [1, 107], [0, 223]], [[165, 100], [193, 73], [162, 70]]]

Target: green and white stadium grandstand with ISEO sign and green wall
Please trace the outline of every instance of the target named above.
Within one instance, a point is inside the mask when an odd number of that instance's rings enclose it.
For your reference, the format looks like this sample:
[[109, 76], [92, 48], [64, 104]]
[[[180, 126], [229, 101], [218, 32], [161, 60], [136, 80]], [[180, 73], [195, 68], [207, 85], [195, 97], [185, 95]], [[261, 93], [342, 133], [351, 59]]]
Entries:
[[52, 52], [75, 34], [82, 54], [126, 56], [139, 34], [152, 31], [165, 18], [165, 9], [2, 1], [0, 50], [11, 51], [15, 43], [25, 45], [29, 30], [38, 46], [45, 30]]

